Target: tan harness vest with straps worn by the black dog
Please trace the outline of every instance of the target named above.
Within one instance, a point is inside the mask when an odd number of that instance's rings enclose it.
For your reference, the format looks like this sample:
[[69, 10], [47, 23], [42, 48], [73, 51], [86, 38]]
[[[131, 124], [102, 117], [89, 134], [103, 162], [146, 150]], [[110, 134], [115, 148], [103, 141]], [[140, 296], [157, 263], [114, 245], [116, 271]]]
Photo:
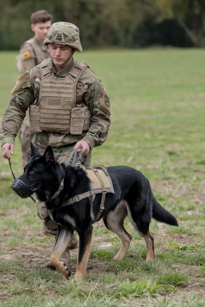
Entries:
[[[66, 200], [64, 204], [61, 205], [61, 207], [71, 205], [73, 203], [76, 203], [90, 196], [93, 196], [93, 201], [94, 201], [95, 196], [97, 194], [101, 194], [102, 195], [101, 206], [100, 206], [100, 209], [94, 221], [94, 222], [97, 222], [101, 216], [101, 213], [104, 210], [104, 201], [105, 201], [106, 194], [115, 193], [115, 192], [114, 192], [114, 188], [112, 185], [112, 180], [108, 174], [108, 170], [103, 165], [97, 165], [97, 166], [94, 166], [93, 168], [86, 169], [86, 175], [90, 179], [90, 182], [91, 182], [90, 191], [76, 195], [72, 198], [69, 198], [68, 200]], [[63, 186], [62, 186], [62, 189], [63, 189]], [[53, 210], [57, 210], [57, 209], [58, 208], [53, 209]]]

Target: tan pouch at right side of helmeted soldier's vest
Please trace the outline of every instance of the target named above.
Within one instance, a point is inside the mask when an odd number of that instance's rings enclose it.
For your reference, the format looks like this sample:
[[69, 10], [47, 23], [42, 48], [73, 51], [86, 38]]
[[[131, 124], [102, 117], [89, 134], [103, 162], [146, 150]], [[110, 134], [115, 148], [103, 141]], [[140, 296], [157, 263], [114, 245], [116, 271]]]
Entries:
[[87, 106], [71, 110], [70, 134], [81, 135], [90, 127], [91, 113]]

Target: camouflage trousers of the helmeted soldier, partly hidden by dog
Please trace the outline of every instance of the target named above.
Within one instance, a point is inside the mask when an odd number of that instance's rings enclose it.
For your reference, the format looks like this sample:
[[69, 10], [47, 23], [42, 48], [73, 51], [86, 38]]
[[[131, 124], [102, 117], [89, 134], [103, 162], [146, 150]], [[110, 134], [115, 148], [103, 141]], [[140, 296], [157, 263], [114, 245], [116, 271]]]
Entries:
[[[49, 132], [43, 132], [41, 133], [40, 139], [39, 136], [36, 134], [33, 138], [33, 144], [41, 154], [44, 153], [46, 147], [49, 145], [49, 135], [50, 135]], [[73, 151], [73, 147], [75, 146], [75, 144], [76, 143], [60, 147], [52, 146], [55, 159], [57, 159], [59, 163], [65, 163], [70, 153]], [[91, 163], [91, 153], [89, 153], [86, 159], [82, 160], [82, 164], [86, 168], [90, 167], [90, 163]], [[50, 235], [56, 235], [57, 225], [53, 222], [53, 220], [50, 219], [45, 203], [37, 201], [37, 215], [43, 222], [44, 233]]]

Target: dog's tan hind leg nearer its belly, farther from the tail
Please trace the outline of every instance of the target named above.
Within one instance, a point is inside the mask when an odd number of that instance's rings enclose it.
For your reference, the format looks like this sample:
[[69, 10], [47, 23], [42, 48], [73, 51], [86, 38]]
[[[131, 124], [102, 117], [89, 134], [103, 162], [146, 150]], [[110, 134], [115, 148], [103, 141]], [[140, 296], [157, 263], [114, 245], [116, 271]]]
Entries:
[[116, 260], [120, 260], [126, 254], [132, 236], [124, 229], [124, 219], [127, 216], [127, 208], [124, 201], [117, 204], [113, 211], [110, 211], [104, 220], [105, 226], [112, 232], [116, 233], [122, 241], [122, 245], [117, 255], [114, 257]]

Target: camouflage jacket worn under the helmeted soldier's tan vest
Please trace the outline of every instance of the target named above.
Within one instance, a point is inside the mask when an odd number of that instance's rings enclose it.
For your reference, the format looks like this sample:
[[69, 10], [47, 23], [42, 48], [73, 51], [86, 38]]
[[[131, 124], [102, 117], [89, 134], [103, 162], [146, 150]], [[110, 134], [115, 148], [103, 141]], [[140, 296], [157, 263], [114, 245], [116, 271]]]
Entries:
[[[57, 78], [62, 78], [68, 74], [74, 63], [75, 60], [73, 60], [69, 66], [57, 72], [51, 60], [49, 67], [52, 68]], [[38, 99], [39, 87], [35, 85], [36, 78], [41, 80], [40, 66], [32, 68], [29, 72], [24, 72], [18, 77], [17, 84], [12, 90], [14, 95], [10, 99], [2, 119], [0, 133], [2, 145], [7, 142], [14, 144], [14, 139], [21, 127], [27, 108]], [[37, 148], [37, 145], [43, 144], [42, 140], [45, 139], [45, 136], [48, 141], [45, 142], [46, 145], [49, 144], [52, 147], [58, 148], [74, 144], [81, 139], [87, 141], [90, 147], [93, 148], [94, 146], [103, 144], [106, 140], [110, 126], [109, 116], [111, 114], [107, 91], [101, 81], [89, 68], [85, 69], [78, 82], [88, 85], [87, 91], [79, 87], [76, 89], [76, 101], [84, 101], [91, 111], [92, 118], [89, 131], [83, 132], [81, 135], [48, 133], [42, 131], [35, 134], [34, 137]], [[45, 148], [42, 149], [45, 150]]]

